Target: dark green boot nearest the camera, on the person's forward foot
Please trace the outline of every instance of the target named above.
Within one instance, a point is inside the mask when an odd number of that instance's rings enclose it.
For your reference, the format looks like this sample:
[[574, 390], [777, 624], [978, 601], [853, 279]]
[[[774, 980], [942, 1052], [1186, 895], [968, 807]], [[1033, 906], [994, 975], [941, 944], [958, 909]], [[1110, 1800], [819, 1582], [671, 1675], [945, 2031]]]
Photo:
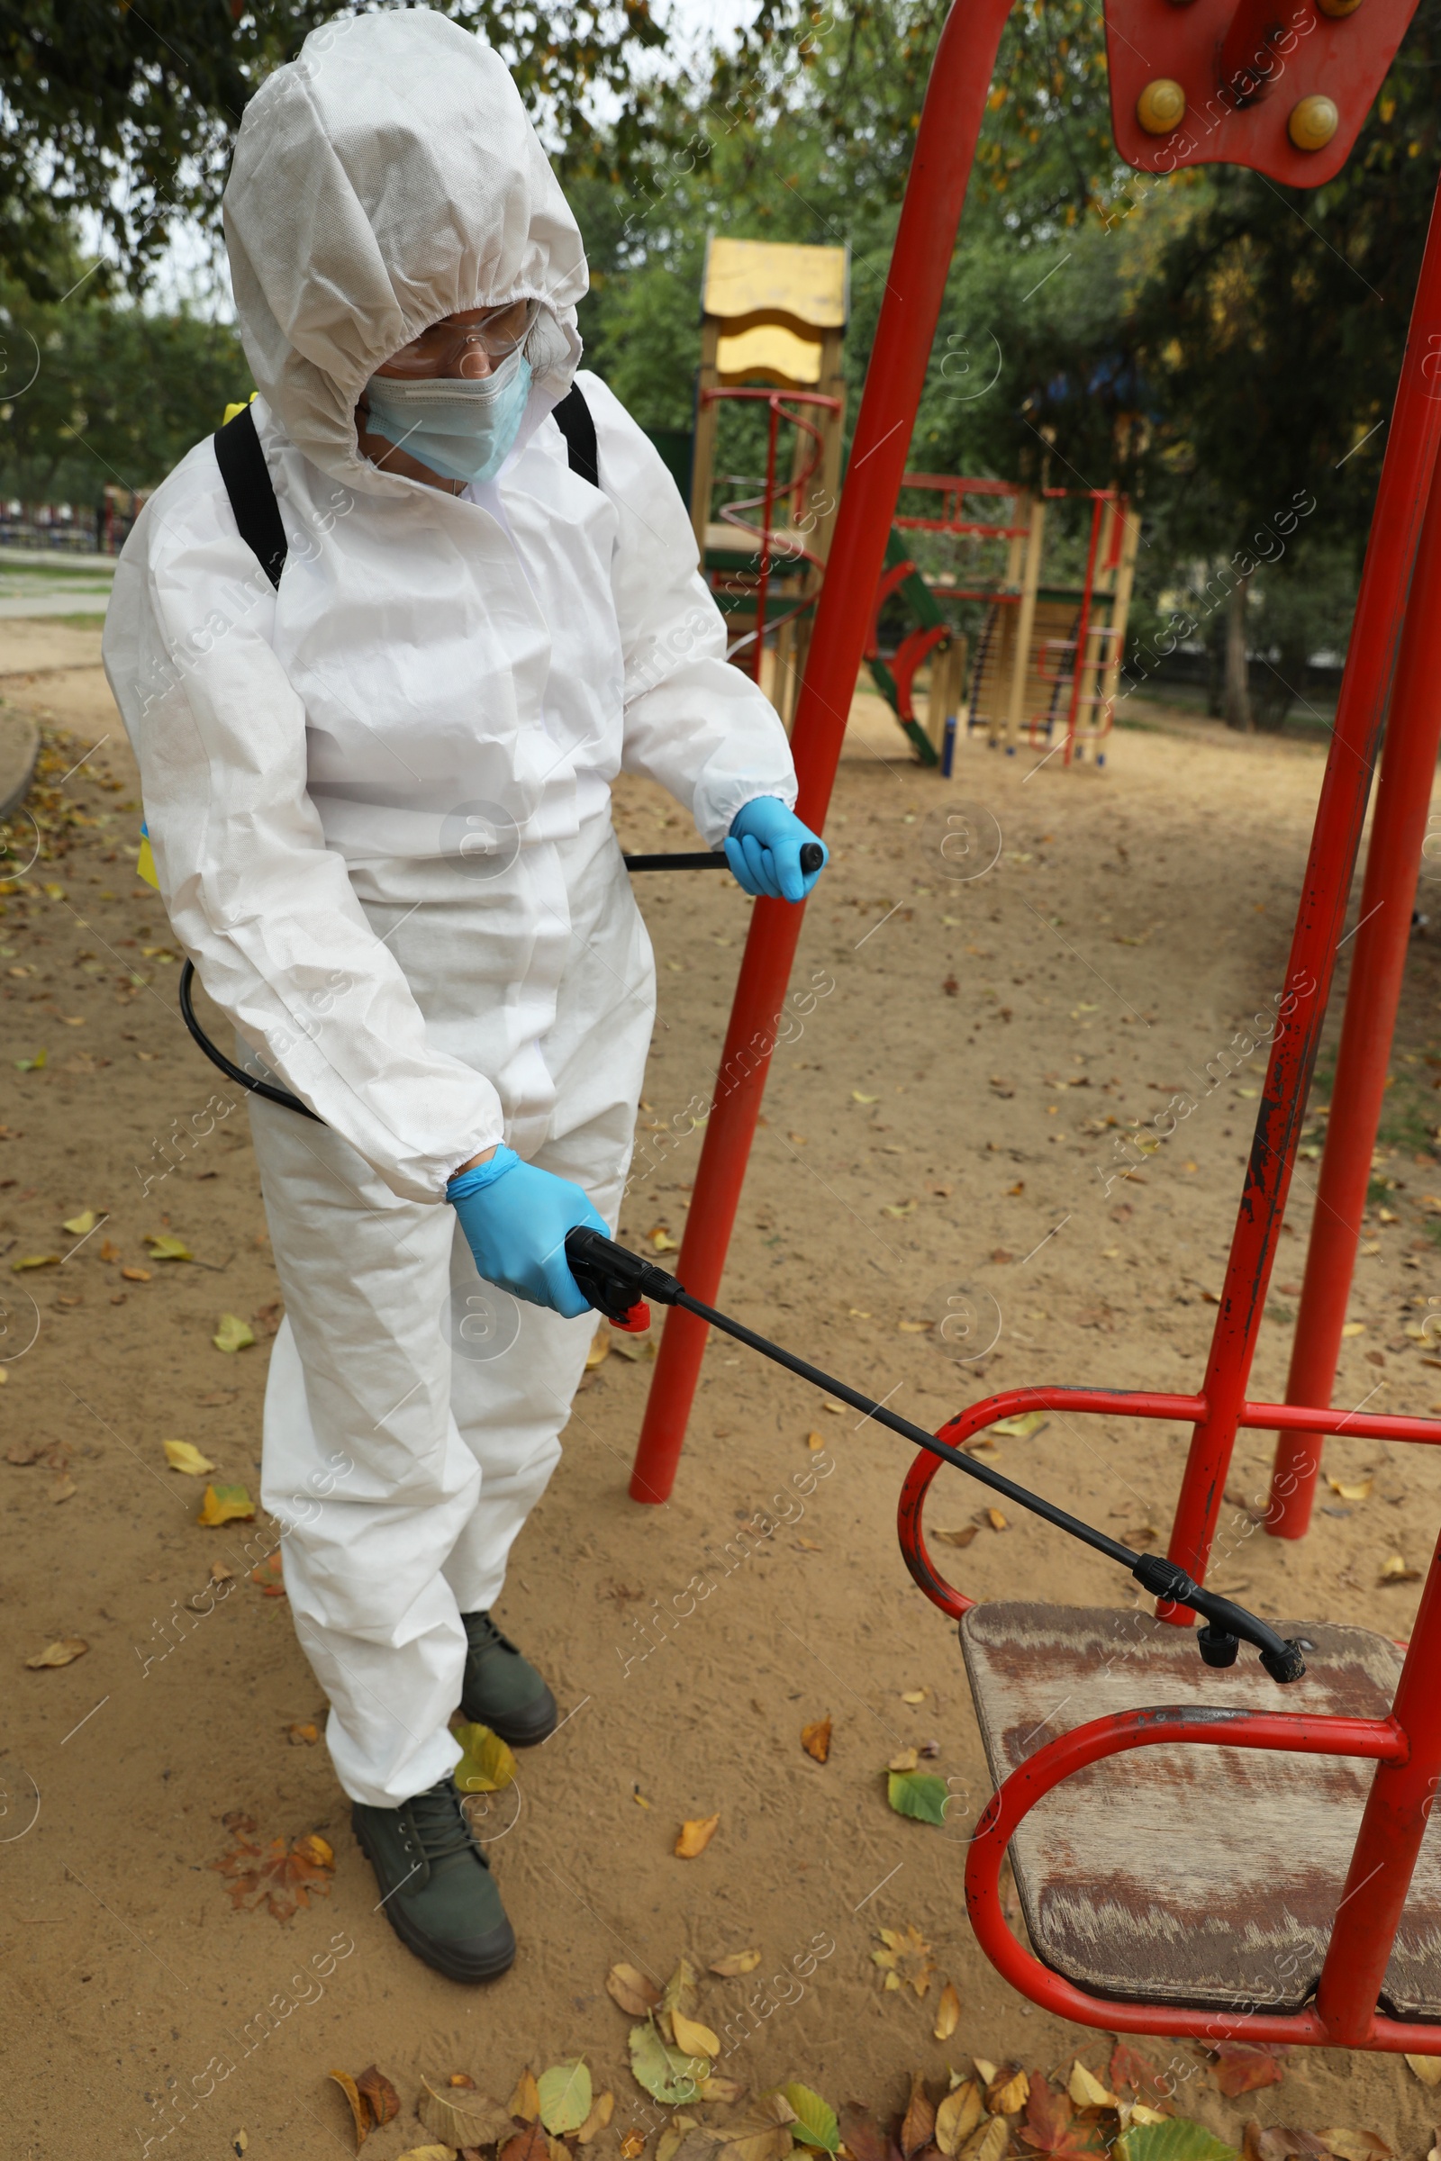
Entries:
[[516, 1956], [514, 1930], [454, 1779], [400, 1809], [356, 1800], [350, 1824], [376, 1871], [382, 1912], [417, 1958], [452, 1982], [490, 1982], [506, 1971]]

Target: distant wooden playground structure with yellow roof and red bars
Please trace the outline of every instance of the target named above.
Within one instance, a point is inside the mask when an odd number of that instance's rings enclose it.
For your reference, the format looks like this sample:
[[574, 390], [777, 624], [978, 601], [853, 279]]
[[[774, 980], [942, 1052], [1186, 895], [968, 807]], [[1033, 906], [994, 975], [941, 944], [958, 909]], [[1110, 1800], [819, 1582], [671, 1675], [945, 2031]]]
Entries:
[[[836, 523], [847, 272], [845, 249], [713, 238], [702, 279], [691, 525], [726, 616], [730, 659], [763, 683], [786, 722]], [[756, 475], [717, 471], [724, 419], [739, 408], [765, 419], [765, 471]], [[758, 447], [754, 430], [748, 447]], [[735, 488], [754, 493], [728, 493]], [[1091, 501], [1085, 575], [1080, 583], [1048, 583], [1048, 504], [1076, 493]], [[907, 534], [951, 542], [953, 575], [922, 571]], [[957, 737], [977, 728], [992, 750], [1009, 754], [1024, 737], [1063, 746], [1067, 765], [1087, 746], [1104, 759], [1136, 540], [1139, 521], [1113, 488], [905, 475], [864, 661], [922, 765], [951, 778]], [[983, 603], [974, 642], [946, 618], [946, 601]], [[916, 711], [920, 674], [929, 674], [925, 722]]]

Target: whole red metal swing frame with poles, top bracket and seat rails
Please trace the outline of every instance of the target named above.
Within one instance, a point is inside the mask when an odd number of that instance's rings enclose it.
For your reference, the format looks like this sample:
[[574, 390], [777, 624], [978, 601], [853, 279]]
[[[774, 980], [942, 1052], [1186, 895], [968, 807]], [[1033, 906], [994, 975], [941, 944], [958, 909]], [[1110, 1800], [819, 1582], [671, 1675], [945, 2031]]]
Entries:
[[[797, 808], [814, 830], [821, 830], [836, 776], [871, 599], [881, 575], [910, 428], [920, 404], [1009, 9], [1011, 0], [957, 0], [931, 69], [797, 700]], [[1413, 0], [1370, 0], [1359, 15], [1331, 15], [1326, 0], [1320, 6], [1296, 0], [1285, 28], [1272, 22], [1275, 13], [1270, 0], [1193, 0], [1186, 9], [1160, 0], [1106, 0], [1113, 123], [1130, 164], [1164, 173], [1225, 158], [1253, 164], [1292, 186], [1316, 186], [1339, 169], [1411, 19]], [[1292, 86], [1275, 97], [1270, 93], [1292, 67], [1285, 37], [1292, 48], [1296, 39], [1316, 43], [1303, 48]], [[1149, 54], [1145, 65], [1143, 52]], [[1231, 91], [1206, 95], [1208, 84], [1214, 84], [1216, 52]], [[1154, 80], [1162, 65], [1158, 54], [1175, 69], [1188, 99], [1186, 132], [1175, 140], [1147, 134], [1136, 117], [1147, 76]], [[1238, 67], [1251, 67], [1240, 86], [1234, 76]], [[1329, 95], [1339, 112], [1335, 134], [1320, 151], [1301, 151], [1292, 140], [1290, 119], [1298, 110], [1292, 99], [1298, 89], [1311, 97]], [[942, 1433], [959, 1444], [1015, 1411], [1046, 1407], [1190, 1422], [1193, 1439], [1169, 1554], [1197, 1580], [1206, 1575], [1225, 1474], [1242, 1426], [1275, 1426], [1281, 1435], [1268, 1528], [1283, 1536], [1301, 1536], [1305, 1530], [1320, 1439], [1326, 1433], [1441, 1441], [1441, 1424], [1432, 1420], [1329, 1407], [1441, 739], [1441, 696], [1435, 694], [1441, 683], [1441, 486], [1432, 486], [1439, 441], [1441, 218], [1432, 210], [1281, 1014], [1203, 1387], [1197, 1396], [1011, 1390], [974, 1405]], [[1290, 1400], [1255, 1405], [1247, 1400], [1247, 1381], [1320, 1026], [1346, 938], [1346, 903], [1383, 728], [1385, 756]], [[735, 1078], [717, 1089], [676, 1264], [687, 1288], [706, 1303], [715, 1303], [719, 1290], [799, 927], [799, 908], [756, 901], [719, 1061], [722, 1074]], [[635, 1500], [663, 1502], [674, 1485], [704, 1335], [704, 1323], [691, 1314], [678, 1307], [668, 1312], [631, 1478]], [[922, 1454], [905, 1480], [901, 1545], [916, 1582], [942, 1612], [957, 1614], [970, 1601], [935, 1575], [925, 1552], [920, 1513], [935, 1469], [938, 1459]], [[1162, 1619], [1186, 1625], [1193, 1614], [1162, 1608]], [[1441, 2053], [1441, 2025], [1396, 2021], [1376, 2008], [1430, 1800], [1441, 1781], [1441, 1699], [1435, 1686], [1426, 1686], [1428, 1670], [1435, 1675], [1439, 1664], [1441, 1547], [1432, 1556], [1389, 1718], [1320, 1718], [1279, 1709], [1238, 1714], [1218, 1724], [1184, 1712], [1141, 1709], [1097, 1718], [1048, 1744], [1002, 1783], [983, 1811], [970, 1848], [966, 1897], [985, 1954], [1033, 2001], [1082, 2025], [1208, 2040], [1244, 2036], [1311, 2046]], [[1160, 1742], [1352, 1755], [1376, 1763], [1318, 1995], [1305, 2010], [1223, 2012], [1091, 1997], [1011, 1936], [1000, 1910], [998, 1876], [1022, 1815], [1085, 1763]], [[1368, 1891], [1365, 1900], [1352, 1895], [1361, 1887]]]

